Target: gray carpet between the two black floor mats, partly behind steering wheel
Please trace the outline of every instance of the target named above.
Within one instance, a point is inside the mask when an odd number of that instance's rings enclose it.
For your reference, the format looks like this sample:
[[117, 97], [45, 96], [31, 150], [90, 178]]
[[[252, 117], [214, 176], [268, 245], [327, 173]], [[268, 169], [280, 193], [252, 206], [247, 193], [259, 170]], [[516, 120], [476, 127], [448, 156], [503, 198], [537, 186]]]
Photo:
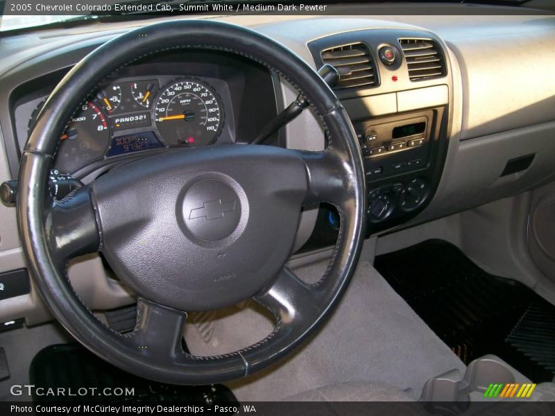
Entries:
[[[325, 266], [318, 263], [296, 272], [314, 281]], [[269, 322], [253, 308], [210, 318], [214, 320], [187, 327], [187, 345], [194, 354], [234, 351], [271, 331]], [[418, 398], [427, 379], [465, 368], [375, 268], [364, 262], [330, 321], [305, 347], [264, 373], [229, 386], [242, 401], [277, 400], [332, 383], [378, 381], [402, 390], [411, 388]]]

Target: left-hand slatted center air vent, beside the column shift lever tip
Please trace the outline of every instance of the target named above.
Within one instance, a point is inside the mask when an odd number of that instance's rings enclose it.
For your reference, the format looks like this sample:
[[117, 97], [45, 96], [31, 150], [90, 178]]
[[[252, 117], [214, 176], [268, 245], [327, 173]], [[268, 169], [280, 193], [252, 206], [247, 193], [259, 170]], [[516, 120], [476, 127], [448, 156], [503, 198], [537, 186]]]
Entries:
[[369, 88], [377, 85], [374, 61], [361, 43], [336, 46], [322, 51], [322, 60], [339, 72], [334, 89]]

